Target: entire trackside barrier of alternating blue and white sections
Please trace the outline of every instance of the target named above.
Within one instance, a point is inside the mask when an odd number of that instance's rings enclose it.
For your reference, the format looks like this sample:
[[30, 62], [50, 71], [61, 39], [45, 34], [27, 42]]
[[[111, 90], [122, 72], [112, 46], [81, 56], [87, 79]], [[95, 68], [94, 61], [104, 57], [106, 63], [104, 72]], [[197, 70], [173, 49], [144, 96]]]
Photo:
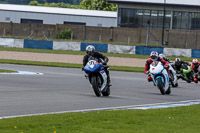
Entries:
[[159, 48], [145, 46], [125, 46], [112, 44], [81, 43], [68, 41], [42, 41], [28, 39], [0, 38], [0, 46], [17, 48], [37, 48], [37, 49], [55, 49], [55, 50], [74, 50], [85, 51], [88, 45], [93, 45], [97, 51], [105, 53], [124, 53], [149, 55], [151, 51], [164, 53], [166, 56], [183, 56], [200, 58], [199, 49], [180, 49], [180, 48]]

